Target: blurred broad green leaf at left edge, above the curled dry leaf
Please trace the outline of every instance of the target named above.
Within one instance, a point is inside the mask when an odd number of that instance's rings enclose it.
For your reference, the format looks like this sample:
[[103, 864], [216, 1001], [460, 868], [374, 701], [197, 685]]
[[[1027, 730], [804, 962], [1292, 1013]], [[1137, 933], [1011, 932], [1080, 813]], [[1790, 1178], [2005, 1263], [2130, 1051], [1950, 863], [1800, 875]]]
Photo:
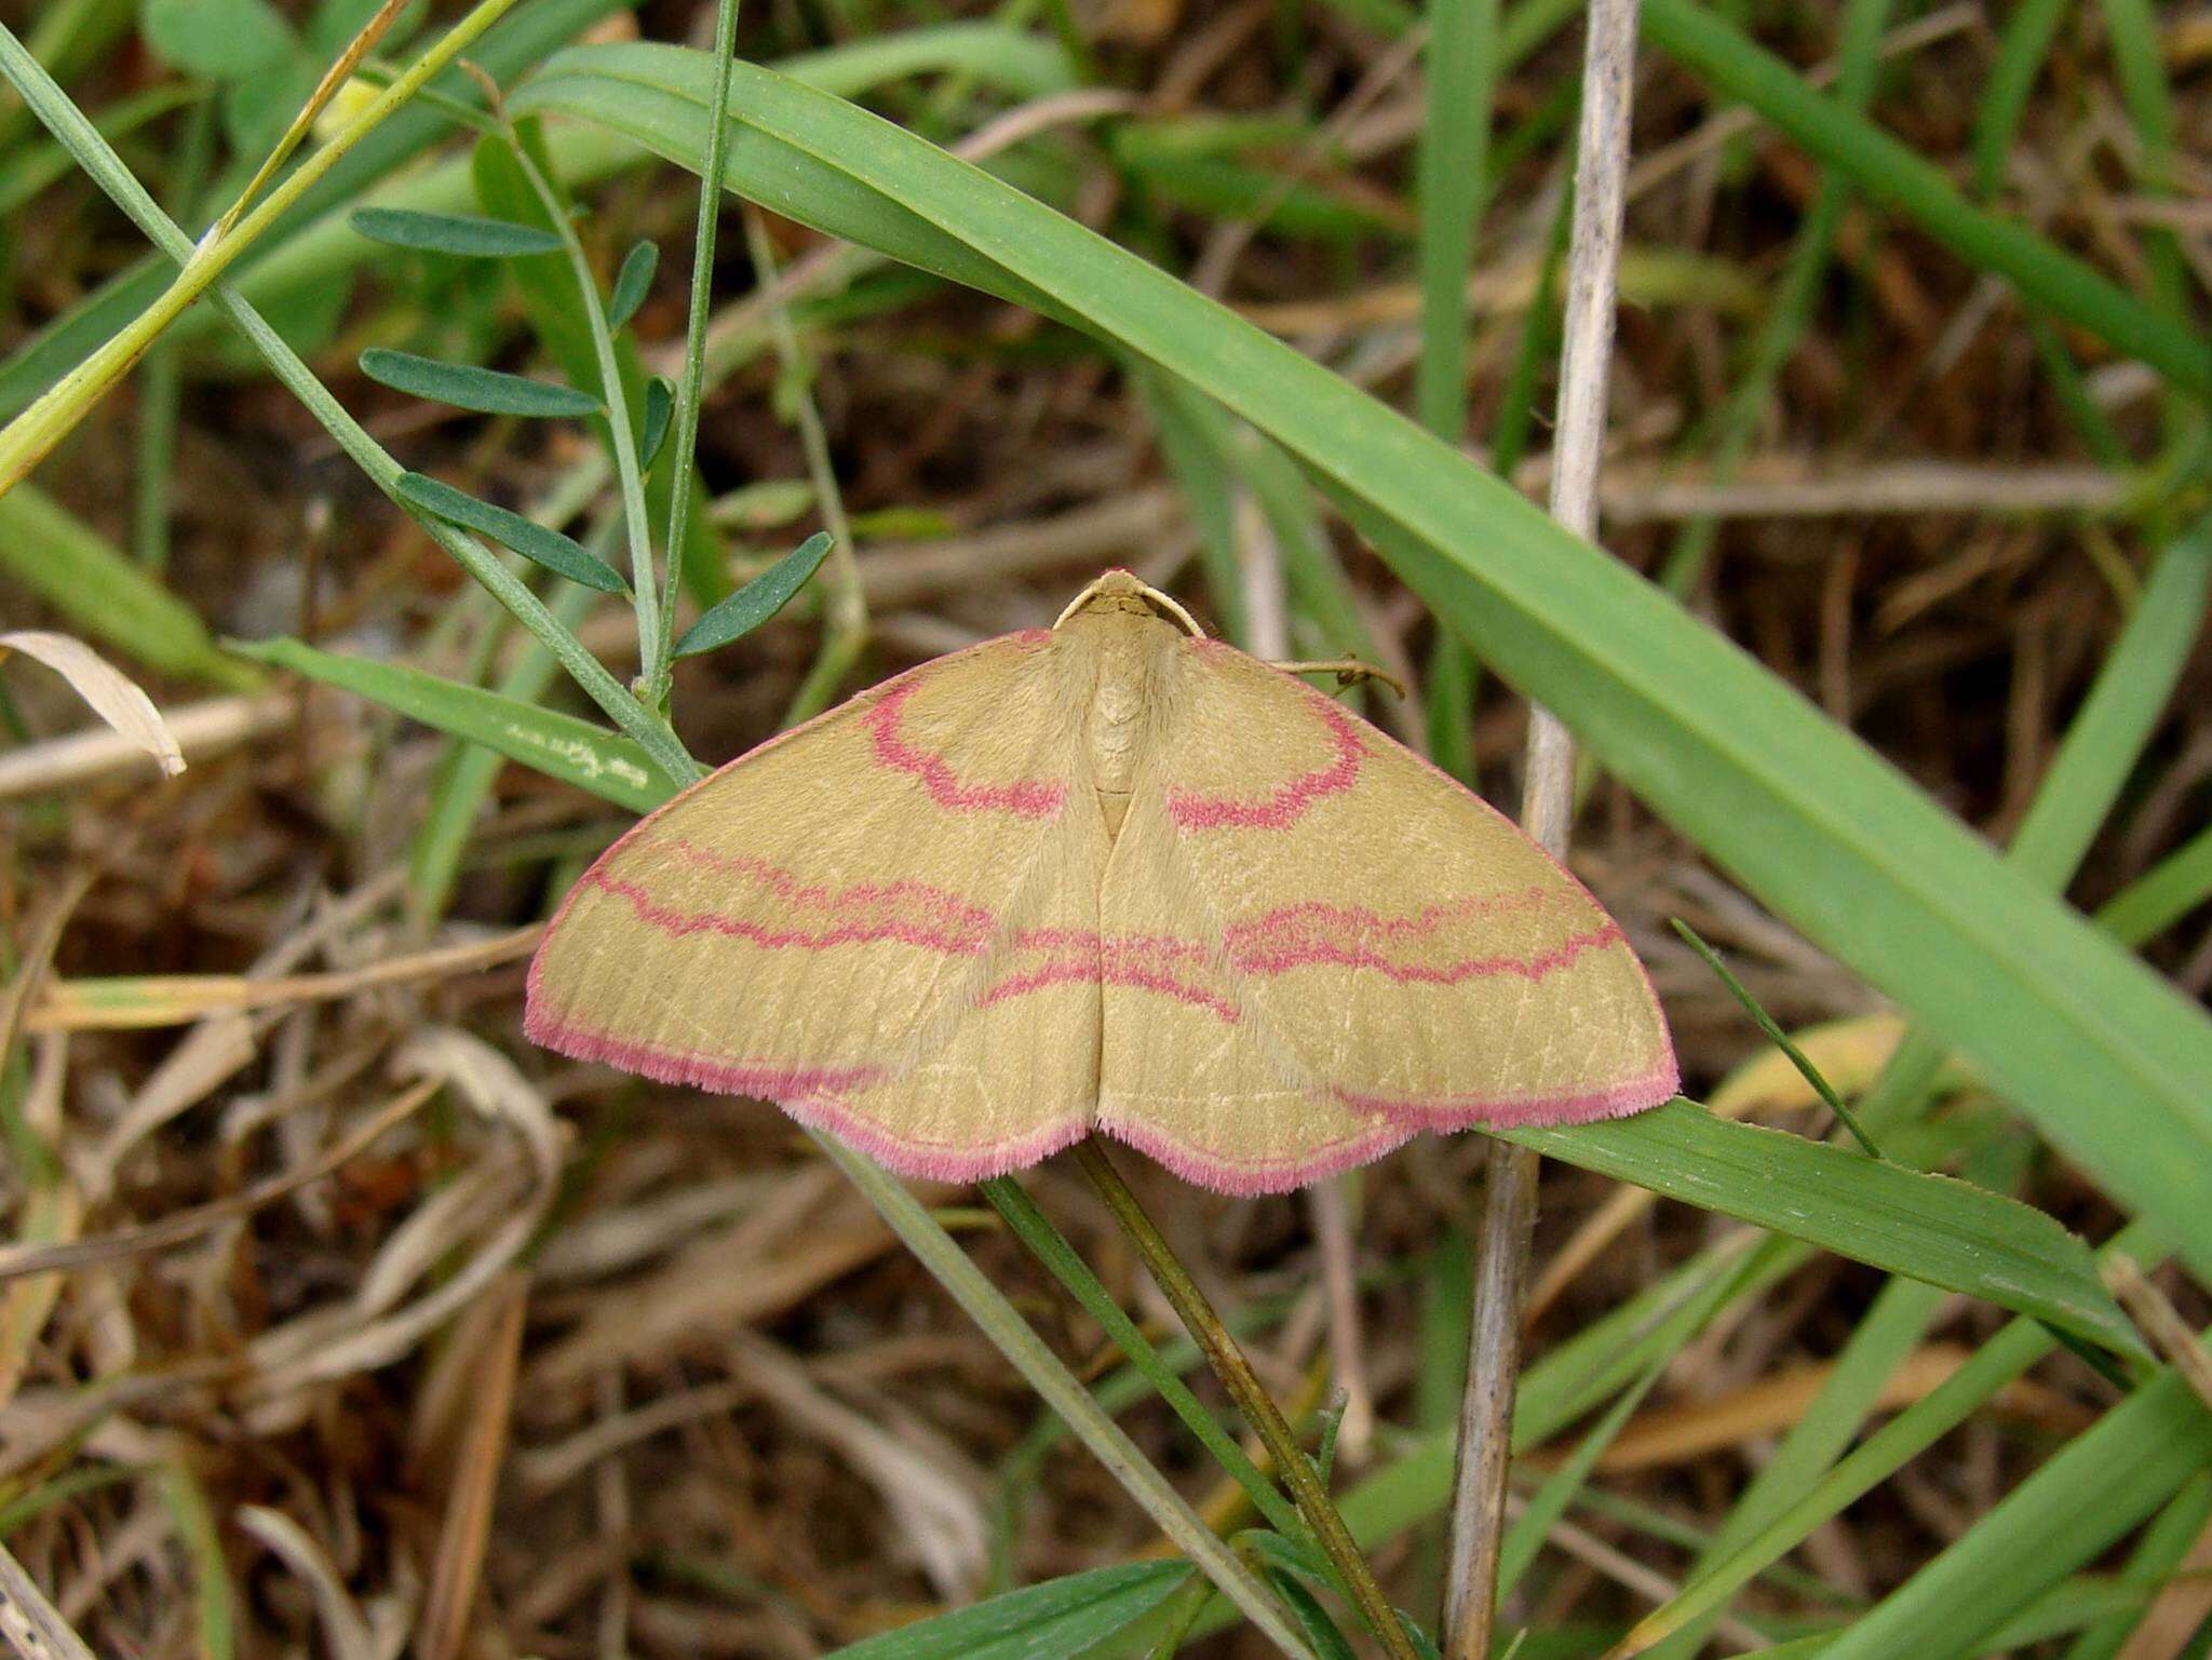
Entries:
[[0, 494], [0, 571], [133, 662], [217, 686], [250, 686], [246, 664], [217, 651], [208, 624], [142, 564], [24, 480]]

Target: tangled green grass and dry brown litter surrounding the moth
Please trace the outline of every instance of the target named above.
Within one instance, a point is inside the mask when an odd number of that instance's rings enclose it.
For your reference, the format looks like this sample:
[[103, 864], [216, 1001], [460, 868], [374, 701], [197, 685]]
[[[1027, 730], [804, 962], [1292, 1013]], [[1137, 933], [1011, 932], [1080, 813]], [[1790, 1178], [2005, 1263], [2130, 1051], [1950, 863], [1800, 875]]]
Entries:
[[[1369, 1651], [1073, 1169], [518, 1031], [695, 757], [1128, 562], [1495, 799], [1524, 699], [1584, 744], [1690, 1100], [1515, 1138], [1500, 1651], [2201, 1653], [2212, 18], [1646, 0], [1599, 551], [1531, 502], [1575, 7], [732, 13], [0, 0], [0, 606], [190, 761], [0, 640], [0, 1607]], [[1124, 1160], [1413, 1642], [1484, 1147]]]

